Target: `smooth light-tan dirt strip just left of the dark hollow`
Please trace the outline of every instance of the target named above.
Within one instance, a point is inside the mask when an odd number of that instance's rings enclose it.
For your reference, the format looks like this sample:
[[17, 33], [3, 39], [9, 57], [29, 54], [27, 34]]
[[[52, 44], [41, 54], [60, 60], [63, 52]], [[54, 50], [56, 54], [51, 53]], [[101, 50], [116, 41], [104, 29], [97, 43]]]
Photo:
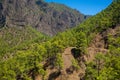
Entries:
[[74, 59], [71, 52], [73, 48], [74, 47], [66, 48], [64, 53], [62, 54], [64, 67], [61, 76], [59, 76], [56, 80], [80, 80], [80, 71], [73, 71], [72, 73], [67, 72], [67, 69], [70, 69], [70, 67], [72, 66], [72, 60]]

